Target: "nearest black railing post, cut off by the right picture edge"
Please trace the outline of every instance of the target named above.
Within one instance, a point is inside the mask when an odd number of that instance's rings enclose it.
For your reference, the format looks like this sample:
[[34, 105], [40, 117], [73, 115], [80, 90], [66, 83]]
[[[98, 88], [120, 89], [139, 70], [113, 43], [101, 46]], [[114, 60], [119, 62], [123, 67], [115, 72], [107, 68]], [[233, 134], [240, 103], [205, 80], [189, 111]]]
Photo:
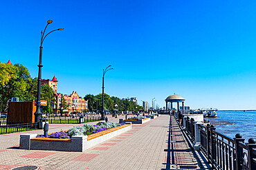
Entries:
[[256, 140], [253, 138], [250, 138], [248, 140], [248, 165], [249, 169], [253, 170], [256, 169]]

